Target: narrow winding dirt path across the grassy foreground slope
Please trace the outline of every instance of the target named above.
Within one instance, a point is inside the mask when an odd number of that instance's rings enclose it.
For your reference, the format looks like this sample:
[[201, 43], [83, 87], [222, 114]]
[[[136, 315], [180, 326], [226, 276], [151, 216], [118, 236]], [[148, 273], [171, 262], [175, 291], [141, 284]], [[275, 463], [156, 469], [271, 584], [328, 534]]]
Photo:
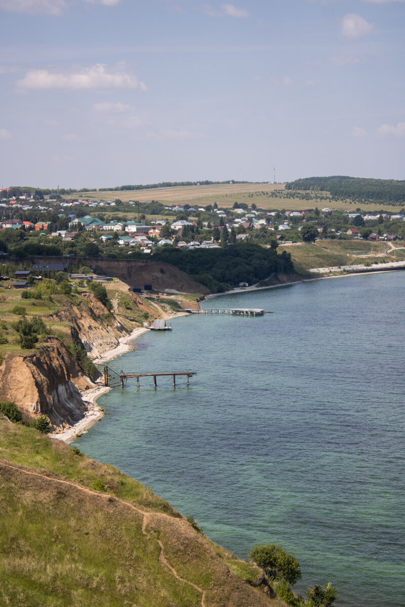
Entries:
[[[62, 478], [53, 478], [52, 476], [47, 476], [46, 474], [41, 474], [40, 472], [33, 472], [33, 470], [27, 470], [24, 467], [17, 466], [16, 464], [13, 465], [13, 464], [5, 463], [4, 461], [0, 461], [0, 469], [1, 469], [1, 467], [9, 468], [12, 470], [17, 470], [20, 473], [27, 474], [30, 476], [38, 476], [39, 478], [46, 479], [47, 481], [51, 481], [52, 483], [69, 485], [70, 487], [75, 487], [75, 489], [79, 489], [80, 491], [87, 493], [87, 495], [97, 495], [98, 497], [101, 496], [103, 498], [106, 498], [106, 500], [108, 500], [108, 501], [116, 501], [120, 504], [123, 504], [124, 506], [131, 508], [131, 510], [134, 510], [135, 512], [137, 512], [137, 514], [140, 514], [141, 517], [143, 517], [142, 533], [144, 535], [148, 535], [148, 532], [146, 531], [146, 527], [148, 526], [149, 519], [151, 518], [152, 515], [154, 517], [160, 517], [160, 518], [170, 518], [170, 519], [172, 518], [172, 517], [169, 517], [168, 514], [162, 514], [160, 512], [145, 512], [144, 510], [140, 510], [133, 504], [130, 504], [128, 501], [120, 500], [119, 498], [114, 497], [110, 493], [103, 493], [101, 491], [96, 491], [94, 489], [88, 489], [87, 487], [83, 487], [83, 485], [73, 483], [72, 481], [66, 481]], [[164, 565], [166, 568], [168, 568], [169, 571], [174, 575], [174, 577], [177, 578], [177, 580], [180, 580], [180, 582], [189, 584], [190, 586], [192, 586], [192, 588], [194, 588], [198, 592], [200, 592], [201, 607], [206, 607], [205, 602], [204, 602], [206, 591], [203, 590], [202, 588], [200, 588], [199, 586], [197, 586], [196, 584], [194, 584], [194, 582], [189, 582], [189, 580], [186, 580], [185, 578], [180, 577], [180, 575], [177, 574], [177, 571], [175, 571], [175, 569], [169, 564], [167, 558], [165, 557], [165, 552], [164, 552], [165, 549], [164, 549], [162, 541], [160, 541], [160, 540], [156, 540], [156, 541], [160, 546], [159, 562], [162, 563], [162, 565]]]

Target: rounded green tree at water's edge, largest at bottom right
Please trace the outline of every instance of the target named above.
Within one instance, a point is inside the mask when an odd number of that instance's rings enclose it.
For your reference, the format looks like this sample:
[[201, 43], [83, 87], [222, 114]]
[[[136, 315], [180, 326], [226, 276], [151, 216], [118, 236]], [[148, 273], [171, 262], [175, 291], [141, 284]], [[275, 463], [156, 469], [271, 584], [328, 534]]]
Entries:
[[250, 558], [270, 580], [285, 580], [289, 584], [295, 584], [301, 579], [299, 562], [291, 552], [279, 544], [257, 544], [249, 553]]

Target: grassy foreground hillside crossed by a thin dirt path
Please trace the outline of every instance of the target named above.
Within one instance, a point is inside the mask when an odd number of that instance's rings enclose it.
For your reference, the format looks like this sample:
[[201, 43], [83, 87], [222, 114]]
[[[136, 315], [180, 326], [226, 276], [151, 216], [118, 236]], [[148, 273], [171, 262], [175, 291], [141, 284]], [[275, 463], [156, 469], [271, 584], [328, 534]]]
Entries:
[[151, 489], [5, 419], [0, 511], [2, 605], [285, 605]]

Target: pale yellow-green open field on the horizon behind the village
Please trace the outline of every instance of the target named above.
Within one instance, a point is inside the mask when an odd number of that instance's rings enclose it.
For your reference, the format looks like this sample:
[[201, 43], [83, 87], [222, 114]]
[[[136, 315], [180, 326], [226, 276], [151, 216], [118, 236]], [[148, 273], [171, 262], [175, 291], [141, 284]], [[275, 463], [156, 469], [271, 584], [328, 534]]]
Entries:
[[[310, 192], [297, 192], [295, 197], [287, 197], [287, 192], [284, 190], [284, 183], [227, 183], [221, 185], [209, 186], [178, 186], [175, 188], [154, 188], [143, 190], [124, 190], [124, 191], [92, 191], [83, 194], [91, 200], [115, 200], [120, 198], [123, 202], [129, 200], [138, 200], [139, 202], [148, 203], [152, 200], [158, 200], [168, 206], [174, 205], [191, 205], [191, 206], [207, 206], [213, 205], [214, 202], [220, 208], [230, 208], [235, 202], [245, 203], [248, 206], [254, 203], [257, 208], [270, 210], [287, 209], [290, 211], [302, 211], [318, 206], [319, 209], [328, 207], [332, 210], [344, 210], [355, 212], [359, 208], [359, 203], [351, 203], [346, 200], [332, 201], [328, 192], [322, 192], [322, 195], [317, 197], [307, 198], [306, 195]], [[278, 191], [279, 195], [271, 196], [270, 192]], [[305, 198], [301, 198], [304, 194]], [[70, 196], [66, 196], [68, 198]], [[399, 212], [401, 206], [387, 205], [362, 205], [362, 212], [378, 211], [383, 209], [384, 212]], [[101, 210], [101, 209], [100, 209]]]

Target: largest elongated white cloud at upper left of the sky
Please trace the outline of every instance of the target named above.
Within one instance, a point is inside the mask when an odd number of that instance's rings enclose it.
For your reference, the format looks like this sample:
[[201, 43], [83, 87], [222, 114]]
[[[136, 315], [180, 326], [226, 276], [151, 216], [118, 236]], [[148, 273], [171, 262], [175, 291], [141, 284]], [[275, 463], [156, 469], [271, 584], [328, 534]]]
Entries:
[[57, 73], [49, 70], [30, 70], [18, 80], [22, 89], [140, 89], [148, 90], [137, 77], [126, 72], [107, 72], [106, 66], [96, 64], [80, 72]]

